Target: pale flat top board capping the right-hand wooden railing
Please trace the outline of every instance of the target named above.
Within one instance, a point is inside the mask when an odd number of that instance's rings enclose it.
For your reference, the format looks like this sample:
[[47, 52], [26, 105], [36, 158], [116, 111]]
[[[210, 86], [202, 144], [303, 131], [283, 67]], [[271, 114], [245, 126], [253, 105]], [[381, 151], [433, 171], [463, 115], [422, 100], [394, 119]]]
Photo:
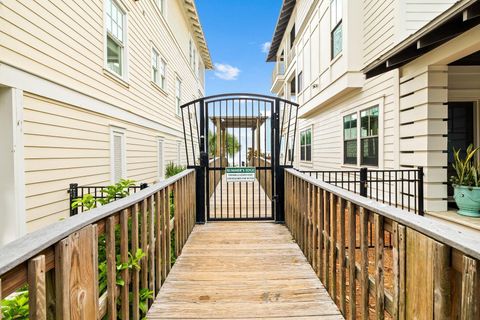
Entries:
[[370, 200], [353, 192], [317, 180], [306, 174], [302, 174], [294, 169], [286, 169], [286, 171], [317, 187], [322, 188], [323, 190], [342, 197], [353, 204], [412, 228], [475, 259], [480, 259], [480, 241], [478, 237], [475, 237], [474, 235], [464, 233], [460, 230], [453, 230], [447, 225], [444, 225], [438, 221], [434, 221], [426, 217], [412, 214], [405, 210]]

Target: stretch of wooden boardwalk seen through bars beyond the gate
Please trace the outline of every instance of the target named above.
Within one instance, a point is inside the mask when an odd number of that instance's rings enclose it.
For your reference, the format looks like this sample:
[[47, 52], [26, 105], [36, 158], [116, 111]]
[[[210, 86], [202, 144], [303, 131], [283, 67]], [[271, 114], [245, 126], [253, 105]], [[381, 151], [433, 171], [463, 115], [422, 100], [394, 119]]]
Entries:
[[210, 197], [210, 217], [273, 219], [272, 201], [258, 180], [227, 183], [226, 175], [221, 179]]

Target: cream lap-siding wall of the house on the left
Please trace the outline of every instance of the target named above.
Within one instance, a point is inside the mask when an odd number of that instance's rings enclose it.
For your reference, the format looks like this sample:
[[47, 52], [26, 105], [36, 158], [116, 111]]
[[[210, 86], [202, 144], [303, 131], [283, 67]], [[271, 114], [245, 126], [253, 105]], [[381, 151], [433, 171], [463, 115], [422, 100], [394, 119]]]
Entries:
[[[124, 78], [106, 68], [105, 0], [0, 3], [0, 86], [23, 97], [25, 155], [18, 167], [26, 213], [17, 223], [27, 231], [68, 216], [70, 183], [112, 182], [111, 128], [125, 135], [125, 178], [157, 181], [160, 156], [164, 164], [186, 163], [176, 78], [182, 103], [205, 92], [203, 70], [189, 61], [191, 41], [197, 65], [206, 64], [186, 2], [165, 0], [164, 15], [153, 0], [117, 3], [127, 20]], [[167, 63], [164, 89], [152, 81], [153, 48]]]

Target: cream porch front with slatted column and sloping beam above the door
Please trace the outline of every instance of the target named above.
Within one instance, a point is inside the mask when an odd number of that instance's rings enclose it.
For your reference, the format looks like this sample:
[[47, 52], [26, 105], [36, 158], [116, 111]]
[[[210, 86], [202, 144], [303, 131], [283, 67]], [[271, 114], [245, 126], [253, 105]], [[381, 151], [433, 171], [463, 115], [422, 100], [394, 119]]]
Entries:
[[[400, 69], [401, 164], [425, 167], [425, 207], [447, 211], [447, 103], [477, 102], [479, 67], [448, 64], [480, 51], [480, 26], [450, 40]], [[477, 143], [480, 141], [476, 132]]]

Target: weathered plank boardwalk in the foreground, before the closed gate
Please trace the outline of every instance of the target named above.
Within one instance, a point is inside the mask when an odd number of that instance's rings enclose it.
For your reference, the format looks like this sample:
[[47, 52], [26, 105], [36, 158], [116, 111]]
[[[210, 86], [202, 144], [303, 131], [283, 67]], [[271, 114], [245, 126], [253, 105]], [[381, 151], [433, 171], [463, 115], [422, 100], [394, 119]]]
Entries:
[[197, 225], [148, 319], [343, 319], [283, 225]]

